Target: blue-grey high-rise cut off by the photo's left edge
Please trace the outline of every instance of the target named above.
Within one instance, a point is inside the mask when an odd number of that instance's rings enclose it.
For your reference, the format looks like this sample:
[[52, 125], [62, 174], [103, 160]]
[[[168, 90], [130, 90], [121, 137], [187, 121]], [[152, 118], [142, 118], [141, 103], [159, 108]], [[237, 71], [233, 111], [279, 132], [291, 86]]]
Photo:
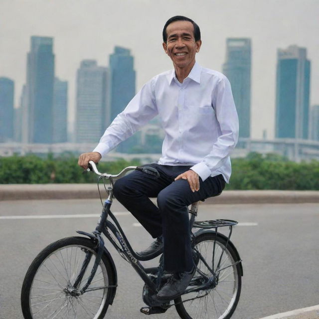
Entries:
[[14, 82], [0, 77], [0, 143], [13, 140]]

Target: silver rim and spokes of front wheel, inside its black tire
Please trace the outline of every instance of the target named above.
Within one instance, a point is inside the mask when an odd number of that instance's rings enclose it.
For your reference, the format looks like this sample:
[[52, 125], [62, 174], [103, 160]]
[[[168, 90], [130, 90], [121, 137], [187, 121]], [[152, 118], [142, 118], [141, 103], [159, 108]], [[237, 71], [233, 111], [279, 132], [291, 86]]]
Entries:
[[54, 250], [43, 260], [34, 274], [29, 290], [32, 319], [101, 318], [107, 302], [108, 289], [92, 289], [109, 285], [106, 265], [102, 260], [88, 288], [89, 291], [76, 297], [68, 293], [72, 290], [88, 251], [92, 252], [92, 258], [78, 288], [80, 291], [95, 261], [96, 252], [92, 248], [70, 244]]

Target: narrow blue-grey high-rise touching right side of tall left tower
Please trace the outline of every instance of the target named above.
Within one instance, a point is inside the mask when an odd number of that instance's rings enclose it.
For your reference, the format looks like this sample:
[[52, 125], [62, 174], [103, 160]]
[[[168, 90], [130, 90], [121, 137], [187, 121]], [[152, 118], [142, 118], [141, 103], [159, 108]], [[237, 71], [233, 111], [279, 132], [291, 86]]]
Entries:
[[54, 79], [53, 143], [67, 142], [68, 82]]

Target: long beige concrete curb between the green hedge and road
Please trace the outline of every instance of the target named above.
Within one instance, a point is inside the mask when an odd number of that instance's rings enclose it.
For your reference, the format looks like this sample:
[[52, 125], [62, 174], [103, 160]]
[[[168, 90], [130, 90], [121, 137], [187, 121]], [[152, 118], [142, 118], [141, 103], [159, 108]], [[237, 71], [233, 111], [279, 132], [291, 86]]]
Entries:
[[[104, 192], [100, 185], [101, 193]], [[104, 196], [104, 195], [103, 195]], [[105, 197], [105, 196], [104, 196]], [[0, 184], [0, 201], [99, 198], [96, 184]], [[317, 190], [225, 190], [206, 204], [319, 203]]]

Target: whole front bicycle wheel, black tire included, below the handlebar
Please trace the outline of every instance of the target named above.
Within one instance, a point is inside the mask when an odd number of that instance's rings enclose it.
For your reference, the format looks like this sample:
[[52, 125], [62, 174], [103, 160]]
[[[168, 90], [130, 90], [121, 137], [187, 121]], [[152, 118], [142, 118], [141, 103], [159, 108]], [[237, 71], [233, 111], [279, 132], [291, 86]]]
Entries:
[[[86, 291], [74, 297], [65, 292], [74, 283], [86, 252], [92, 252], [79, 290], [86, 283], [96, 256], [95, 244], [84, 237], [60, 239], [44, 248], [26, 272], [21, 289], [24, 319], [102, 319], [116, 288]], [[114, 269], [105, 254], [89, 289], [116, 284]], [[114, 297], [114, 296], [113, 296]]]

